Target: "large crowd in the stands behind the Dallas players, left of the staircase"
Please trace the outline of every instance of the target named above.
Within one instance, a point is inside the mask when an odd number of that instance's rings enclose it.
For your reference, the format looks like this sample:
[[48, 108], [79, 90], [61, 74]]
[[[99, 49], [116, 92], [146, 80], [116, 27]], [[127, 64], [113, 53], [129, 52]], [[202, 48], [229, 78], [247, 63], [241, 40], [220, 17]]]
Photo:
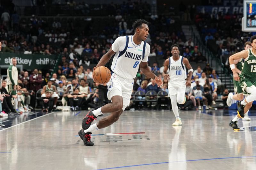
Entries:
[[[5, 12], [8, 13], [8, 11]], [[20, 72], [19, 88], [27, 92], [26, 96], [30, 99], [30, 101], [25, 100], [27, 108], [37, 105], [42, 108], [42, 111], [48, 112], [62, 105], [71, 106], [71, 110], [75, 111], [90, 107], [98, 108], [109, 102], [106, 96], [108, 91], [106, 84], [100, 85], [93, 82], [92, 69], [117, 37], [133, 34], [131, 26], [134, 18], [125, 12], [117, 12], [116, 16], [108, 19], [108, 23], [102, 24], [104, 27], [96, 27], [96, 24], [103, 20], [79, 18], [75, 21], [71, 18], [66, 21], [54, 18], [46, 21], [35, 15], [25, 20], [13, 11], [8, 22], [1, 22], [0, 39], [3, 52], [61, 55], [58, 70], [53, 74], [45, 70], [42, 73], [37, 69]], [[133, 94], [136, 91], [142, 91], [145, 94], [149, 91], [154, 91], [156, 94], [164, 91], [168, 94], [168, 80], [162, 77], [163, 66], [159, 67], [158, 64], [162, 64], [172, 55], [170, 49], [172, 44], [178, 44], [180, 55], [187, 57], [190, 62], [206, 64], [207, 59], [198, 51], [198, 46], [192, 39], [186, 40], [184, 33], [180, 31], [180, 23], [175, 18], [154, 15], [149, 16], [148, 20], [150, 34], [146, 41], [151, 46], [148, 64], [152, 72], [163, 79], [164, 84], [157, 87], [154, 81], [145, 77], [139, 70], [134, 79]], [[81, 27], [82, 31], [77, 31], [81, 30]], [[8, 31], [10, 34], [7, 34]], [[194, 70], [192, 85], [186, 90], [187, 102], [180, 108], [201, 109], [200, 101], [203, 101], [206, 109], [212, 108], [218, 95], [220, 96], [224, 91], [224, 86], [216, 71], [212, 70], [208, 63], [205, 68], [199, 66]], [[10, 100], [6, 98], [8, 101], [6, 100], [5, 106], [8, 107], [5, 107], [7, 109], [4, 111], [15, 112], [18, 108], [12, 108], [9, 102], [15, 96], [8, 97]], [[139, 96], [138, 99], [145, 98], [146, 96]], [[149, 96], [149, 99], [154, 98], [156, 95]]]

